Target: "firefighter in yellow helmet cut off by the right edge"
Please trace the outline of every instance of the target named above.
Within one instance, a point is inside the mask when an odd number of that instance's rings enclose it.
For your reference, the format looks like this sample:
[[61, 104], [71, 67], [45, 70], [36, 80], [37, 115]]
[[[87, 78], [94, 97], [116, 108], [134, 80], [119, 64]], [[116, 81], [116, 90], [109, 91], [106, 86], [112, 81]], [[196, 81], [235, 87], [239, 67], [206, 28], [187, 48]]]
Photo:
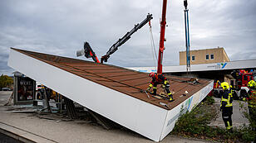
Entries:
[[249, 117], [251, 121], [254, 122], [252, 125], [254, 125], [254, 131], [256, 131], [256, 83], [254, 80], [249, 81], [248, 87], [249, 92], [247, 97], [243, 98], [243, 100], [248, 102]]

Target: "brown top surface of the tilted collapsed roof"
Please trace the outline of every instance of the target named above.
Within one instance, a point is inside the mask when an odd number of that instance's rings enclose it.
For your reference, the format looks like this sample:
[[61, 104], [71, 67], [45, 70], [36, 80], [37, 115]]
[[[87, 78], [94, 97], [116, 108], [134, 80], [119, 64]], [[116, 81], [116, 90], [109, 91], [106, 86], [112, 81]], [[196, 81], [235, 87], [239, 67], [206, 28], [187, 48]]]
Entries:
[[[150, 93], [148, 93], [150, 98], [148, 98], [146, 93], [140, 93], [140, 89], [145, 90], [148, 88], [151, 80], [150, 77], [148, 77], [148, 74], [140, 73], [131, 69], [124, 69], [110, 64], [98, 64], [86, 60], [76, 60], [27, 50], [17, 51], [37, 60], [42, 60], [47, 64], [52, 64], [53, 66], [66, 70], [72, 74], [76, 74], [84, 79], [99, 83], [145, 102], [150, 102], [151, 104], [163, 107], [167, 110], [179, 105], [180, 102], [190, 98], [190, 96], [197, 93], [201, 88], [204, 88], [210, 83], [207, 79], [199, 79], [199, 84], [187, 83], [186, 81], [189, 80], [188, 78], [166, 75], [165, 77], [170, 79], [170, 91], [173, 93], [175, 98], [174, 102], [169, 102], [165, 99], [154, 98]], [[188, 94], [186, 94], [186, 96], [182, 96], [185, 91], [188, 91]], [[159, 85], [157, 93], [160, 92], [162, 92], [162, 89]], [[160, 102], [167, 104], [167, 106], [161, 105]]]

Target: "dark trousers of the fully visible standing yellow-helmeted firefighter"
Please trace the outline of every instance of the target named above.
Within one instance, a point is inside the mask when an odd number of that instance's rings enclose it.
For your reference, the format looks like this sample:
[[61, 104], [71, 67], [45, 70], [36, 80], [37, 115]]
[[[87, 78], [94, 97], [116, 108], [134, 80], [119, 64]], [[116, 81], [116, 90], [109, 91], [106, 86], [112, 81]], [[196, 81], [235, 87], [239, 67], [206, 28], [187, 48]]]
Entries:
[[233, 107], [223, 107], [222, 109], [222, 119], [226, 126], [227, 130], [232, 129], [232, 114], [233, 114]]

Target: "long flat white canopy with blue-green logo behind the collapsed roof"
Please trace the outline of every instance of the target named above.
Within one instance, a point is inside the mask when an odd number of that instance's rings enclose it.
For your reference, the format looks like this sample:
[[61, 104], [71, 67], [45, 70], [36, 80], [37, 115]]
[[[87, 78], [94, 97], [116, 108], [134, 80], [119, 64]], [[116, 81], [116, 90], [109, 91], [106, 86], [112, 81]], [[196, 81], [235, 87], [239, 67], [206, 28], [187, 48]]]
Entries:
[[[155, 67], [130, 67], [140, 72], [154, 72]], [[164, 66], [163, 73], [178, 76], [193, 76], [202, 79], [215, 79], [219, 81], [228, 81], [232, 79], [230, 74], [233, 70], [256, 69], [256, 59], [253, 60], [235, 60], [229, 62], [220, 62], [212, 64], [191, 64], [190, 73], [186, 70], [186, 65]]]

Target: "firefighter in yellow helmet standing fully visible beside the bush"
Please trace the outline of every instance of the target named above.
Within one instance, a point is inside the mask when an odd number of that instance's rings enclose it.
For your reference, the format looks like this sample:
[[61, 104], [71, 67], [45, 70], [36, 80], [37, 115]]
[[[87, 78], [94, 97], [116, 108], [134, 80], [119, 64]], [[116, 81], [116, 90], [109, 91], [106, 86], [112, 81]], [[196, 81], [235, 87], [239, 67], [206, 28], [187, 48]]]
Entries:
[[229, 91], [229, 83], [223, 82], [221, 83], [221, 87], [224, 91], [221, 95], [220, 111], [222, 112], [222, 118], [226, 129], [232, 131], [233, 97], [232, 93]]

